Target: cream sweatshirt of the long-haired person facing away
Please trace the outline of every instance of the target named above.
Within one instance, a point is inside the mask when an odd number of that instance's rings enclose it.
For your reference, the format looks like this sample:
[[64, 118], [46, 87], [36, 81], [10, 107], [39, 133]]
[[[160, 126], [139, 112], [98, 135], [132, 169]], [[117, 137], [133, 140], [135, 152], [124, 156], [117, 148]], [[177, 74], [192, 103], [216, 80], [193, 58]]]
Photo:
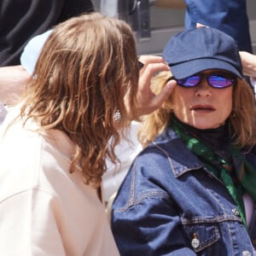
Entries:
[[0, 132], [0, 255], [119, 255], [96, 189], [68, 172], [73, 143], [20, 121], [5, 133], [15, 112]]

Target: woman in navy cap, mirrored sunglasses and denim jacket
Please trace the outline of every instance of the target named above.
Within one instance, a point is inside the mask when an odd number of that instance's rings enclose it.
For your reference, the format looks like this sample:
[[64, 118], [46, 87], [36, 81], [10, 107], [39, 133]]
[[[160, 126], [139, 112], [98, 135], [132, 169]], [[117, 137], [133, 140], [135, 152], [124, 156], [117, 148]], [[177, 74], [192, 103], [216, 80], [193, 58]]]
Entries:
[[172, 77], [160, 79], [177, 86], [145, 119], [146, 148], [113, 202], [120, 254], [253, 255], [256, 115], [236, 43], [201, 27], [171, 38], [163, 55]]

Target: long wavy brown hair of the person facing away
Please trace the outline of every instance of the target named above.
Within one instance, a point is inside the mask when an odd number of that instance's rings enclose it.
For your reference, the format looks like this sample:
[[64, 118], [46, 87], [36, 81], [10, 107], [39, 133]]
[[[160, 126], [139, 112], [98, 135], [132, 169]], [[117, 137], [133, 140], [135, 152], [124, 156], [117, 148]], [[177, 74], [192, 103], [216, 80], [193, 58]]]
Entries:
[[79, 164], [84, 182], [97, 186], [106, 160], [117, 160], [120, 133], [113, 114], [121, 114], [119, 127], [130, 124], [125, 101], [135, 112], [137, 84], [131, 27], [99, 13], [80, 15], [50, 33], [27, 84], [21, 115], [36, 120], [43, 131], [64, 131], [76, 144], [70, 172]]

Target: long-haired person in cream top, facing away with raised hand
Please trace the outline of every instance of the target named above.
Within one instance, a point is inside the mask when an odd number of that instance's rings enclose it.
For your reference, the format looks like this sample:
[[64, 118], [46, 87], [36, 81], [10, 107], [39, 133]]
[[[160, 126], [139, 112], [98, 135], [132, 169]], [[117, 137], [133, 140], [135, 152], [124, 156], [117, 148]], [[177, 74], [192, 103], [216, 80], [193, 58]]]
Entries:
[[131, 119], [158, 108], [175, 84], [154, 96], [151, 77], [170, 67], [141, 61], [139, 79], [122, 20], [92, 13], [55, 26], [1, 127], [1, 255], [119, 255], [100, 195], [106, 160], [118, 160]]

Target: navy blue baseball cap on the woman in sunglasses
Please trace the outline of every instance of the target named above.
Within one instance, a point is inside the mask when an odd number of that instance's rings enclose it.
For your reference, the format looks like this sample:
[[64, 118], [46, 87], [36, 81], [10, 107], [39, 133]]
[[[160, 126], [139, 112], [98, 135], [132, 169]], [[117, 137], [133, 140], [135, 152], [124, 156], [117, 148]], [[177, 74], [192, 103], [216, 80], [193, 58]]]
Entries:
[[218, 29], [202, 26], [178, 32], [166, 44], [163, 58], [176, 79], [218, 68], [242, 78], [236, 41]]

